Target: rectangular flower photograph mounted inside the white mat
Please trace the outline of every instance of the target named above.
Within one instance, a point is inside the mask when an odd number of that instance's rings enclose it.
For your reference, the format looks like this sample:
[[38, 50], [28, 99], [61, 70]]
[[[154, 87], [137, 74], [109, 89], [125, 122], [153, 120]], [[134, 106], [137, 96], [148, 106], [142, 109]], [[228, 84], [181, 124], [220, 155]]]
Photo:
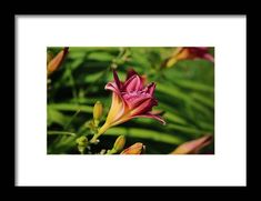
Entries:
[[214, 154], [214, 47], [47, 47], [47, 154]]

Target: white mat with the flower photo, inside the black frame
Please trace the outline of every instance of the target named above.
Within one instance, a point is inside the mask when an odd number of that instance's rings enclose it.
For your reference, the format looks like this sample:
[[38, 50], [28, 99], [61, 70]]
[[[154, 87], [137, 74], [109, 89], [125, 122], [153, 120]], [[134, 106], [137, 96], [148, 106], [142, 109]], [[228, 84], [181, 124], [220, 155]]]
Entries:
[[16, 16], [16, 184], [245, 185], [245, 42], [244, 16]]

